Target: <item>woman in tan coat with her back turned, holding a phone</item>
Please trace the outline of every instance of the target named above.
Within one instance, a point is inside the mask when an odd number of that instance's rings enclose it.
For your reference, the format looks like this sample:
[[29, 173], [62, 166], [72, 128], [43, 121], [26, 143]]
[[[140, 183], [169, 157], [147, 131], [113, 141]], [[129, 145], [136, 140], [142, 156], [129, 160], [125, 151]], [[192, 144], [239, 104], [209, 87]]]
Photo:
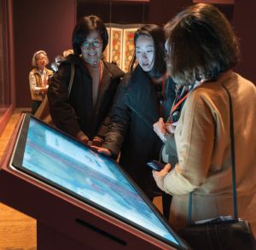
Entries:
[[211, 4], [198, 3], [166, 25], [167, 72], [189, 91], [174, 131], [178, 162], [153, 172], [173, 195], [170, 224], [185, 227], [192, 193], [192, 223], [233, 214], [230, 92], [236, 148], [238, 216], [256, 232], [256, 88], [235, 73], [239, 44], [230, 23]]

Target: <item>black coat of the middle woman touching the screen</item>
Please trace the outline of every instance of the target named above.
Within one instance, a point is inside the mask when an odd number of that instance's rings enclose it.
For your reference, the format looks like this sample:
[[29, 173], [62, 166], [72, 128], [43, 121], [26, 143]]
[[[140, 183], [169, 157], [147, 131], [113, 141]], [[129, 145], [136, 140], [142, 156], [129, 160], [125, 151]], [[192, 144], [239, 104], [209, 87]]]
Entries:
[[[164, 89], [166, 119], [175, 98], [175, 87], [171, 79]], [[153, 130], [153, 125], [159, 118], [160, 102], [155, 84], [137, 66], [133, 73], [125, 75], [119, 85], [103, 147], [108, 148], [115, 156], [121, 150], [120, 166], [151, 199], [159, 189], [146, 163], [159, 159], [162, 142]]]

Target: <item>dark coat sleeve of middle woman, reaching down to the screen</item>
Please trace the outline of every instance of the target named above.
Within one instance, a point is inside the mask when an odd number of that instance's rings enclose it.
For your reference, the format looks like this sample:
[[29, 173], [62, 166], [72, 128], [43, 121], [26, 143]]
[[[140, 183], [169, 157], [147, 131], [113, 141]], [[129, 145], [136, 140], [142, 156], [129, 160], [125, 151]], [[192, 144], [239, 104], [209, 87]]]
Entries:
[[126, 131], [130, 126], [131, 110], [125, 103], [127, 102], [128, 81], [125, 77], [119, 84], [110, 113], [108, 133], [102, 145], [103, 148], [108, 148], [112, 152], [113, 158], [118, 156]]

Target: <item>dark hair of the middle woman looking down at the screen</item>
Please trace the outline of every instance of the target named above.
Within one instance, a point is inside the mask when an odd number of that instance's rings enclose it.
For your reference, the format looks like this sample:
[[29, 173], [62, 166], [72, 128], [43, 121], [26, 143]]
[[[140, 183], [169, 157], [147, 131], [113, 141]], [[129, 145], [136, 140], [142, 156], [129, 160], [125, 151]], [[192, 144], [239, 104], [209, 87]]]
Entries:
[[160, 26], [154, 24], [146, 24], [140, 27], [134, 34], [134, 44], [136, 45], [139, 36], [148, 36], [154, 40], [154, 67], [152, 72], [154, 75], [162, 75], [166, 73], [165, 61], [165, 32]]

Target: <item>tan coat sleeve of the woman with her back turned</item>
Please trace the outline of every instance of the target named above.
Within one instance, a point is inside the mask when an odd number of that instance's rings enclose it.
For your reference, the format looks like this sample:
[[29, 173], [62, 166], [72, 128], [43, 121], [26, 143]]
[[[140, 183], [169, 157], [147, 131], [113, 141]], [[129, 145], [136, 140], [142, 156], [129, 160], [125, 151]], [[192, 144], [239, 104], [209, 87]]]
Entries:
[[207, 181], [214, 145], [215, 121], [207, 98], [191, 93], [175, 131], [177, 165], [160, 180], [172, 195], [186, 195]]

